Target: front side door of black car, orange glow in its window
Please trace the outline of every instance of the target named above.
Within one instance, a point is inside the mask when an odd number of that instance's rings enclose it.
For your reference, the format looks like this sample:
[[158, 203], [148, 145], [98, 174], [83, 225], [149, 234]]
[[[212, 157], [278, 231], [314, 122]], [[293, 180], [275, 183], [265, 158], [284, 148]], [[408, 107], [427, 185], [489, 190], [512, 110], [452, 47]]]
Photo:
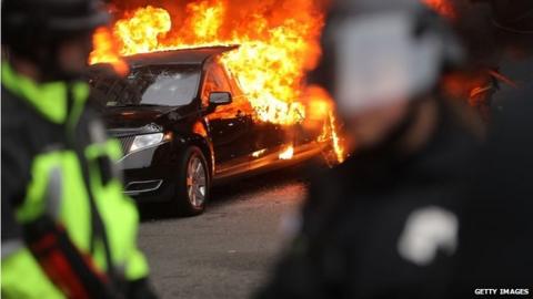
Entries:
[[231, 104], [217, 106], [207, 117], [214, 148], [215, 173], [224, 176], [244, 172], [252, 152], [251, 111], [241, 105], [225, 70], [217, 63], [207, 70], [202, 105], [209, 106], [209, 94], [212, 92], [230, 92], [233, 100]]

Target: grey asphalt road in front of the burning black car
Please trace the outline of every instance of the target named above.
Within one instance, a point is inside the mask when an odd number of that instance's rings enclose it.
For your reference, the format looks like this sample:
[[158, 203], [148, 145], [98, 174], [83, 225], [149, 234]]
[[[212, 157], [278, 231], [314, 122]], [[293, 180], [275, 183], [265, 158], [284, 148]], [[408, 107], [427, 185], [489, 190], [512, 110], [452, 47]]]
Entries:
[[301, 166], [217, 187], [204, 215], [161, 218], [142, 207], [139, 245], [162, 298], [250, 298], [266, 280], [305, 197]]

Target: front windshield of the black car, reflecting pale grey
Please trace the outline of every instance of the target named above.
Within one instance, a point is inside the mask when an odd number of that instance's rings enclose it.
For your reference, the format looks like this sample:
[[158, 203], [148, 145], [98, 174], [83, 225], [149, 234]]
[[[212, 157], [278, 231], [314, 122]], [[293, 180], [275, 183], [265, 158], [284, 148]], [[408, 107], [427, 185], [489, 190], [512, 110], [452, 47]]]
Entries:
[[[133, 69], [127, 80], [107, 85], [105, 106], [183, 106], [198, 94], [201, 71], [194, 68], [145, 66]], [[100, 86], [98, 86], [100, 85]]]

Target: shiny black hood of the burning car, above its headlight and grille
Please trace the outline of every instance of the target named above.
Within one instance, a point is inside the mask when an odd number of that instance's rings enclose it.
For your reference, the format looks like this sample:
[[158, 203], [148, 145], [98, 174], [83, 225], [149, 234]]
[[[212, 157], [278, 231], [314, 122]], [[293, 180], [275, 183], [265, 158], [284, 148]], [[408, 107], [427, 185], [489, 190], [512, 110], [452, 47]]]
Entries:
[[182, 107], [134, 106], [109, 107], [103, 118], [111, 135], [144, 134], [161, 132], [171, 122], [183, 118]]

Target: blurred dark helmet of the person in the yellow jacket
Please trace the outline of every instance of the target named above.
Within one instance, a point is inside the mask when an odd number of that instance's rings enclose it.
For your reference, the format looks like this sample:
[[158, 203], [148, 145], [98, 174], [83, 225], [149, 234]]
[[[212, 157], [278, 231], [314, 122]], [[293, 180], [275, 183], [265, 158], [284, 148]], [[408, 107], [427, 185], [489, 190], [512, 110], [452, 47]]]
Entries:
[[60, 71], [57, 47], [109, 22], [99, 0], [3, 0], [2, 45], [41, 68]]

